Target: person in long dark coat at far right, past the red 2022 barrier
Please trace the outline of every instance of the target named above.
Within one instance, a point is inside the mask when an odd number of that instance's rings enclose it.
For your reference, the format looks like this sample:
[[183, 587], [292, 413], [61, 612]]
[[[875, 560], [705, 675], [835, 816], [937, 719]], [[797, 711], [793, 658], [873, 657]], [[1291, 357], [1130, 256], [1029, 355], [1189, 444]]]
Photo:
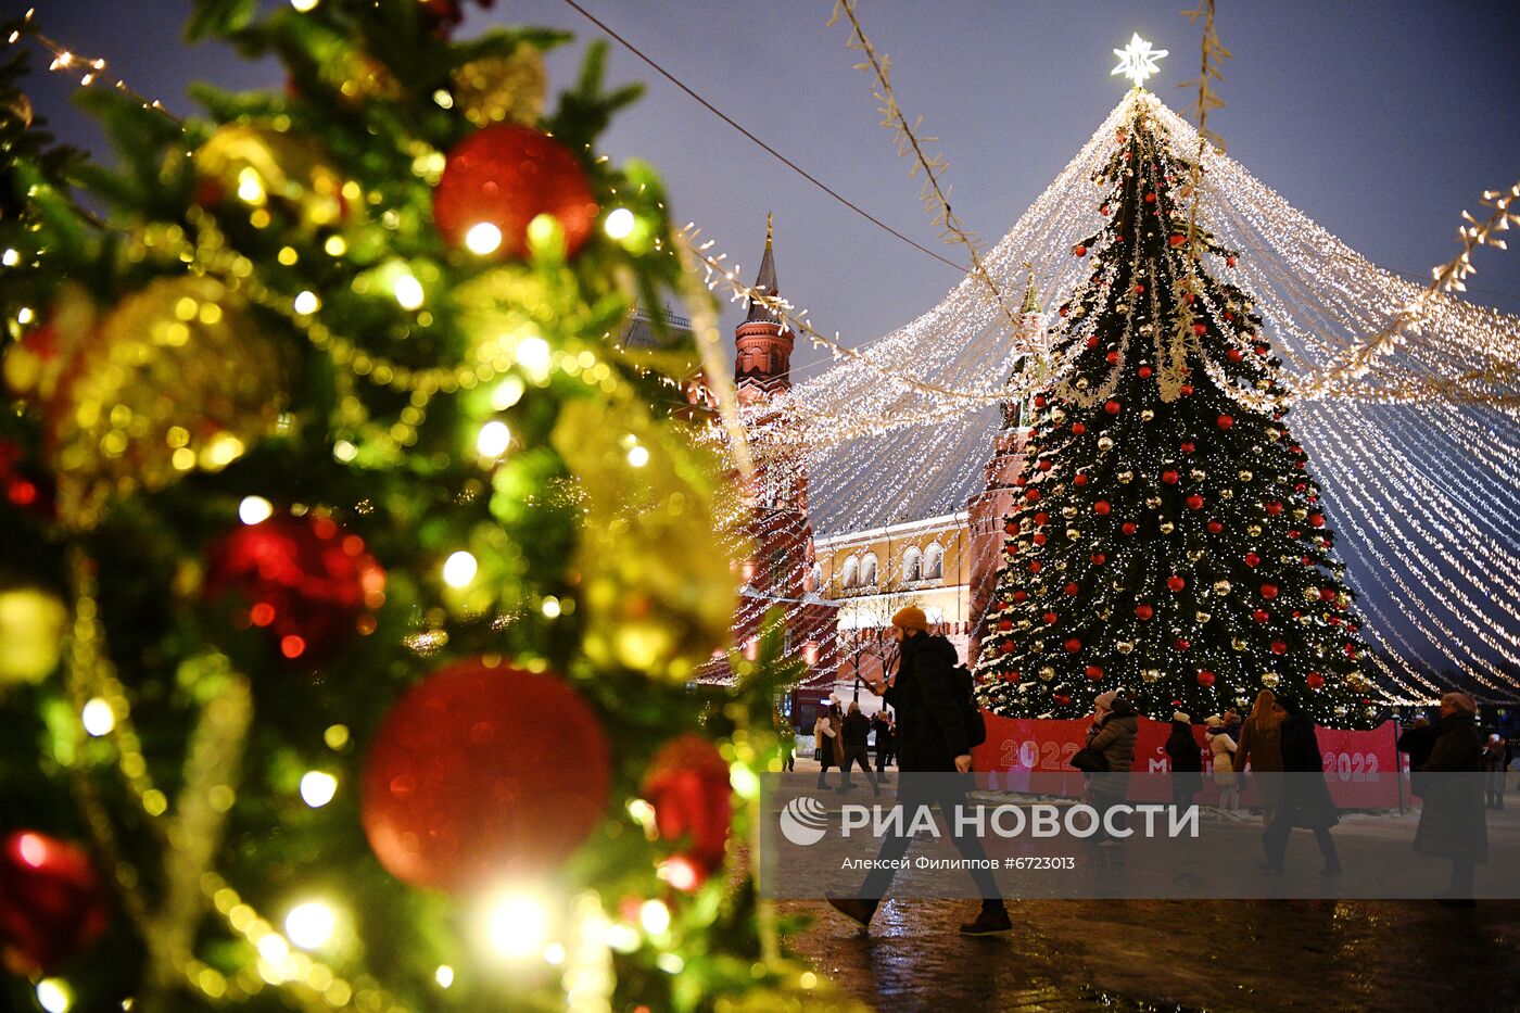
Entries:
[[1488, 823], [1484, 815], [1484, 741], [1477, 735], [1477, 704], [1467, 694], [1441, 697], [1435, 747], [1426, 761], [1429, 779], [1415, 850], [1452, 862], [1452, 885], [1441, 896], [1449, 903], [1473, 903], [1473, 867], [1488, 861]]

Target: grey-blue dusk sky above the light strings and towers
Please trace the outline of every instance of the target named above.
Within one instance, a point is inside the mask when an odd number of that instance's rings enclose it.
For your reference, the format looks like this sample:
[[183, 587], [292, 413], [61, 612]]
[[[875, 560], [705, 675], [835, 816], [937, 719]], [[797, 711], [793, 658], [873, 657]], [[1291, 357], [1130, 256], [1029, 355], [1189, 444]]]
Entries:
[[[877, 125], [869, 79], [853, 70], [845, 26], [825, 27], [830, 3], [585, 0], [588, 11], [717, 108], [844, 196], [915, 240], [941, 248], [906, 178], [891, 134]], [[1178, 111], [1196, 75], [1199, 29], [1184, 0], [885, 3], [860, 18], [892, 59], [898, 100], [924, 117], [950, 161], [956, 211], [990, 243], [1044, 190], [1128, 82], [1111, 78], [1111, 50], [1140, 32], [1170, 50], [1149, 84]], [[216, 47], [185, 49], [184, 0], [41, 0], [46, 30], [172, 110], [192, 110], [185, 84], [280, 87], [272, 64], [249, 65]], [[556, 0], [471, 6], [465, 32], [491, 21], [550, 24], [576, 41], [550, 59], [562, 88], [600, 32]], [[1485, 189], [1520, 178], [1520, 5], [1442, 0], [1219, 3], [1218, 29], [1234, 59], [1211, 126], [1228, 152], [1354, 249], [1423, 280], [1449, 259], [1464, 208]], [[915, 318], [956, 281], [945, 265], [856, 216], [755, 148], [614, 44], [611, 82], [643, 81], [646, 97], [605, 135], [614, 158], [640, 157], [664, 173], [678, 222], [695, 221], [746, 274], [775, 211], [781, 291], [819, 330], [862, 344]], [[68, 82], [35, 82], [40, 111], [67, 140], [100, 148], [93, 123], [68, 106]], [[1520, 312], [1520, 251], [1482, 249], [1471, 297]], [[737, 322], [728, 307], [725, 322]], [[801, 351], [803, 362], [818, 356]]]

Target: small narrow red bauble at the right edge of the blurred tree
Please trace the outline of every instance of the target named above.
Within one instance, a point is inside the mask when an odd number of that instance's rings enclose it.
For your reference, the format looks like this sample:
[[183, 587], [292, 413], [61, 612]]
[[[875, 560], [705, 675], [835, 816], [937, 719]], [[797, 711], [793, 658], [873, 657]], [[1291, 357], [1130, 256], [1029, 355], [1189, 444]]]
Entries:
[[686, 838], [678, 856], [684, 875], [672, 884], [684, 890], [702, 885], [722, 867], [728, 847], [734, 809], [727, 761], [701, 735], [682, 735], [655, 753], [641, 794], [655, 809], [660, 838]]

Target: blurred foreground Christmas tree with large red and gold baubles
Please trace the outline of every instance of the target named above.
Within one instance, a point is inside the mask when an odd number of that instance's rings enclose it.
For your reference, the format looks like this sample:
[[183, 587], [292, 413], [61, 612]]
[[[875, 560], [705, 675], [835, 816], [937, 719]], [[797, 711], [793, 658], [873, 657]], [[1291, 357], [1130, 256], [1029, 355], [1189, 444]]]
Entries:
[[696, 351], [619, 342], [693, 298], [596, 149], [635, 88], [593, 47], [549, 106], [567, 40], [451, 0], [258, 8], [188, 33], [283, 93], [79, 91], [114, 170], [0, 81], [11, 1005], [818, 996], [734, 846], [792, 672], [692, 681], [736, 586]]

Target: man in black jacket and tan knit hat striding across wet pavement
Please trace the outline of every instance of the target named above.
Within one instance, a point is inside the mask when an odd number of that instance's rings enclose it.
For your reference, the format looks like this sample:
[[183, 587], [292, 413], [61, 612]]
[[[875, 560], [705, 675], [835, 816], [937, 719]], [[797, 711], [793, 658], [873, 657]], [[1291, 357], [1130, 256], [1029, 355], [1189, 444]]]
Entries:
[[[929, 634], [923, 608], [909, 605], [892, 616], [892, 639], [901, 643], [897, 675], [872, 689], [897, 712], [898, 803], [910, 814], [918, 806], [938, 806], [945, 824], [955, 829], [955, 811], [967, 806], [967, 785], [947, 774], [971, 771], [971, 748], [967, 745], [965, 716], [956, 703], [952, 669], [956, 651], [941, 636]], [[927, 776], [927, 777], [924, 777]], [[904, 824], [910, 823], [910, 817]], [[982, 894], [982, 911], [974, 922], [961, 926], [967, 935], [1008, 932], [1012, 923], [997, 890], [997, 881], [985, 869], [986, 852], [971, 834], [952, 834], [956, 850], [973, 859], [971, 878]], [[889, 837], [882, 843], [877, 865], [865, 878], [859, 897], [828, 897], [839, 911], [862, 926], [871, 923], [876, 907], [892, 885], [894, 862], [907, 853], [912, 835]]]

